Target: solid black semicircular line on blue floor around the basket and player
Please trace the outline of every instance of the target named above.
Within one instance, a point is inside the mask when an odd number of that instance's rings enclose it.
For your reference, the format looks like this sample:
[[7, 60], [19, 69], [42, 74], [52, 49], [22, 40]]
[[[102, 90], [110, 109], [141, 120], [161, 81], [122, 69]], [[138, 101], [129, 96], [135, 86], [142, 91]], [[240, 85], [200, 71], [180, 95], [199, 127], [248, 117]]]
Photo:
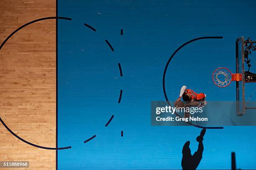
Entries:
[[[184, 47], [185, 45], [187, 45], [187, 44], [189, 44], [189, 43], [191, 43], [191, 42], [194, 42], [194, 41], [196, 41], [196, 40], [209, 39], [209, 38], [223, 38], [223, 37], [198, 37], [198, 38], [192, 39], [192, 40], [190, 40], [190, 41], [188, 41], [188, 42], [185, 42], [183, 45], [181, 45], [179, 48], [177, 48], [177, 50], [174, 51], [174, 53], [171, 55], [171, 57], [170, 57], [169, 60], [167, 61], [166, 66], [165, 66], [165, 68], [164, 68], [164, 75], [163, 75], [163, 90], [164, 90], [164, 97], [165, 97], [165, 99], [166, 99], [168, 105], [171, 106], [171, 104], [170, 104], [170, 102], [169, 102], [169, 100], [168, 100], [168, 97], [167, 97], [167, 95], [166, 95], [166, 90], [165, 90], [165, 75], [166, 75], [166, 70], [167, 70], [167, 68], [168, 68], [168, 65], [169, 65], [169, 63], [171, 62], [172, 58], [173, 58], [174, 55], [175, 55], [182, 47]], [[174, 112], [174, 113], [175, 113], [176, 116], [180, 117], [177, 112]], [[191, 122], [186, 122], [186, 123], [188, 123], [189, 125], [195, 126], [195, 127], [197, 127], [197, 128], [205, 128], [205, 129], [223, 129], [223, 127], [204, 127], [204, 126], [195, 125], [195, 124], [193, 124], [193, 123], [191, 123]]]

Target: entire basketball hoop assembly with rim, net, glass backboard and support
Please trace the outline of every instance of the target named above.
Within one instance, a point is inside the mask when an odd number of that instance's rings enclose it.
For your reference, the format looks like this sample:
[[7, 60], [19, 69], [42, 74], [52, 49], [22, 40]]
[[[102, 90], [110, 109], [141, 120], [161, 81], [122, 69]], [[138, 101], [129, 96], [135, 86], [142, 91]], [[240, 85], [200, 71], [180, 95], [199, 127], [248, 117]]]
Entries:
[[[236, 113], [237, 116], [243, 116], [246, 110], [256, 109], [256, 107], [248, 107], [247, 104], [253, 96], [255, 90], [245, 100], [245, 83], [256, 82], [256, 73], [250, 72], [250, 59], [248, 58], [252, 51], [256, 51], [256, 41], [250, 38], [244, 40], [244, 37], [236, 39], [236, 73], [231, 73], [225, 67], [220, 67], [212, 73], [212, 81], [218, 87], [227, 87], [232, 81], [236, 81]], [[245, 71], [245, 62], [248, 65], [248, 71]]]

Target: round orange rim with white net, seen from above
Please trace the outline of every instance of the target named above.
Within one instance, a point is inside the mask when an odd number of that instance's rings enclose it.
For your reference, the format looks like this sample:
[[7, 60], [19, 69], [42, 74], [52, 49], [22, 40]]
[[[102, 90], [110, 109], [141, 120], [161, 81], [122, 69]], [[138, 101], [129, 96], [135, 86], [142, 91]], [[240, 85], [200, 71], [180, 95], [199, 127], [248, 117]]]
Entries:
[[219, 87], [226, 87], [231, 83], [231, 73], [226, 68], [219, 68], [213, 72], [213, 82]]

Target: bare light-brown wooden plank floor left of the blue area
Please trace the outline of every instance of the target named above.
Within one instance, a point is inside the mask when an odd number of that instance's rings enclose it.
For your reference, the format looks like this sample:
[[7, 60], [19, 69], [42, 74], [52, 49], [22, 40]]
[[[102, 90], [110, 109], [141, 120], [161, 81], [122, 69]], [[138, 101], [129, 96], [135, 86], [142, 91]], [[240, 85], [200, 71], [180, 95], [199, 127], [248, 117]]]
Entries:
[[[54, 16], [56, 0], [1, 0], [0, 44], [21, 25]], [[56, 20], [28, 25], [0, 50], [0, 117], [21, 138], [56, 147]], [[0, 161], [54, 170], [55, 160], [55, 150], [28, 145], [0, 123]]]

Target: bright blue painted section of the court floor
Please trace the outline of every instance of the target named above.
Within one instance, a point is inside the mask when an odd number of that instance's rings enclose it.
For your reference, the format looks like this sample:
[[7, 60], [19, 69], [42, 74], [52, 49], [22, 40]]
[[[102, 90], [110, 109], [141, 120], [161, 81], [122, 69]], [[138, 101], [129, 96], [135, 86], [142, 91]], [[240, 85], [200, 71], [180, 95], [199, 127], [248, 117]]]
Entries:
[[[182, 169], [182, 147], [189, 140], [194, 153], [201, 129], [151, 126], [151, 101], [165, 100], [162, 77], [166, 62], [188, 40], [223, 36], [199, 40], [179, 51], [166, 72], [166, 93], [176, 100], [182, 85], [187, 85], [207, 94], [209, 101], [235, 101], [235, 83], [219, 88], [212, 83], [212, 72], [218, 67], [236, 71], [236, 38], [256, 39], [256, 2], [58, 3], [59, 16], [72, 18], [59, 20], [58, 25], [58, 143], [59, 147], [72, 146], [58, 151], [59, 170]], [[252, 63], [251, 71], [256, 72], [256, 59]], [[255, 84], [246, 87], [247, 98], [254, 88]], [[118, 103], [120, 90], [123, 95]], [[255, 133], [255, 126], [207, 130], [198, 169], [231, 169], [231, 152], [236, 152], [238, 168], [256, 169]], [[84, 143], [93, 135], [94, 139]]]

